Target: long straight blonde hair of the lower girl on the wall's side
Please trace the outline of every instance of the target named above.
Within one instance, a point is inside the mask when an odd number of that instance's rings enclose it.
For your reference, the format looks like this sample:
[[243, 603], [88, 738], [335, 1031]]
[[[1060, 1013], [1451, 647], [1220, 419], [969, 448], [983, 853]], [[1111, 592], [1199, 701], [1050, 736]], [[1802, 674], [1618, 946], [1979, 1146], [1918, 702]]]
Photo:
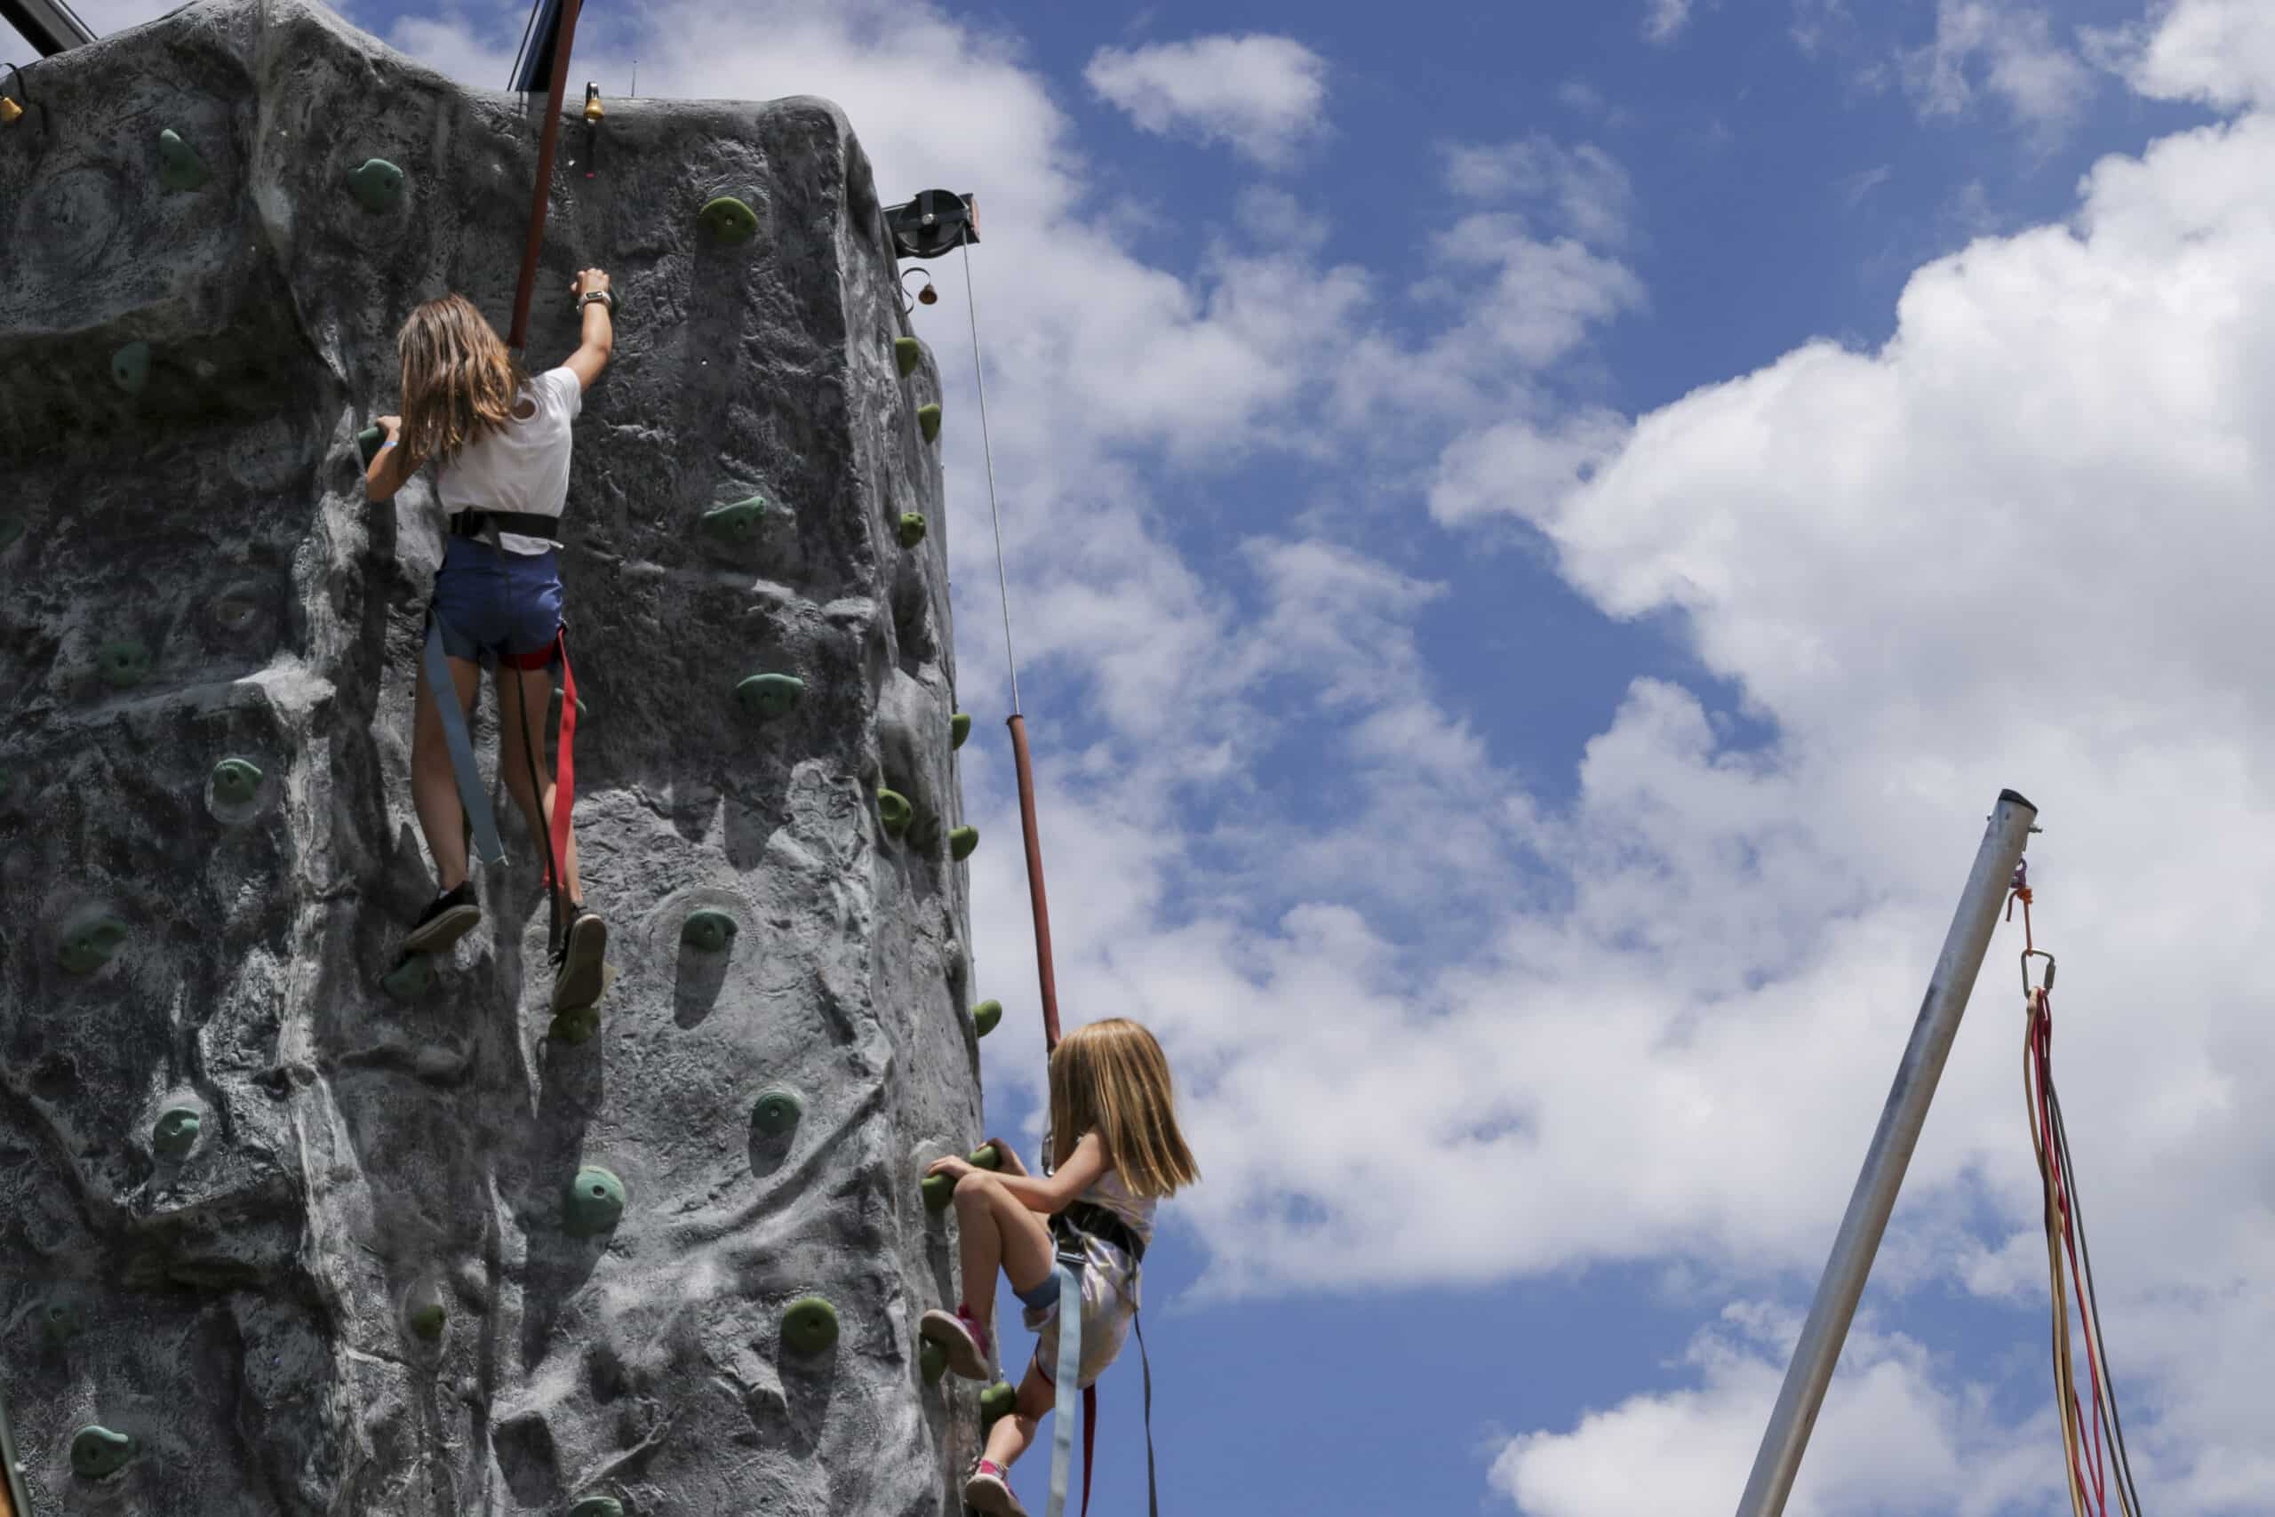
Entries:
[[1108, 1017], [1074, 1028], [1051, 1051], [1051, 1169], [1097, 1133], [1106, 1160], [1140, 1201], [1201, 1178], [1176, 1130], [1169, 1060], [1135, 1021]]

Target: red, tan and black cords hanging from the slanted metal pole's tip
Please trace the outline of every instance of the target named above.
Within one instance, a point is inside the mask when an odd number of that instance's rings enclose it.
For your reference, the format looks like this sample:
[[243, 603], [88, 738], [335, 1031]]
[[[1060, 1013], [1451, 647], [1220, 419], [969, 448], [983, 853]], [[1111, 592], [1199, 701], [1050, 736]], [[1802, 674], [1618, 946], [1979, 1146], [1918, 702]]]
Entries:
[[[2029, 1142], [2038, 1158], [2038, 1180], [2045, 1187], [2045, 1260], [2054, 1301], [2054, 1399], [2061, 1412], [2070, 1510], [2075, 1517], [2107, 1517], [2111, 1485], [2107, 1474], [2113, 1469], [2118, 1510], [2125, 1517], [2141, 1517], [2141, 1490], [2134, 1485], [2132, 1456], [2125, 1449], [2125, 1421], [2118, 1417], [2109, 1346], [2102, 1340], [2102, 1310], [2093, 1292], [2093, 1251], [2086, 1246], [2086, 1215], [2077, 1199], [2070, 1135], [2061, 1121], [2061, 1096], [2054, 1094], [2054, 955], [2041, 948], [2032, 935], [2029, 864], [2013, 869], [2007, 896], [2009, 921], [2013, 921], [2016, 903], [2022, 905], [2022, 1101], [2029, 1110]], [[2034, 958], [2045, 960], [2045, 973], [2036, 985], [2029, 978]], [[2086, 1344], [2084, 1396], [2079, 1396], [2070, 1356], [2068, 1303], [2073, 1294], [2077, 1299], [2077, 1335]]]

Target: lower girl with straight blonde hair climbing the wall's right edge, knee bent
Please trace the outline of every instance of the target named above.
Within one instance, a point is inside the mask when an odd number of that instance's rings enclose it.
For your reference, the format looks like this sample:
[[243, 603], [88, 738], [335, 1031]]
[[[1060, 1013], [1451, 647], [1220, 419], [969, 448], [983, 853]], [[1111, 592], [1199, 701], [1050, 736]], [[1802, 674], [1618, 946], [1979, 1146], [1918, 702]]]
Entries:
[[[987, 1449], [965, 1483], [965, 1503], [981, 1512], [1024, 1517], [1010, 1490], [1010, 1465], [1035, 1437], [1053, 1403], [1058, 1367], [1058, 1278], [1051, 1233], [1081, 1240], [1083, 1321], [1078, 1385], [1092, 1385], [1128, 1337], [1138, 1315], [1138, 1267], [1153, 1240], [1153, 1208], [1201, 1171], [1176, 1130], [1169, 1060], [1135, 1021], [1092, 1021], [1051, 1051], [1051, 1151], [1046, 1178], [1033, 1178], [1008, 1144], [994, 1139], [1001, 1171], [944, 1158], [926, 1174], [956, 1176], [956, 1230], [965, 1299], [956, 1312], [924, 1315], [921, 1335], [949, 1356], [949, 1369], [987, 1381], [994, 1278], [1001, 1267], [1040, 1333], [1019, 1381], [1012, 1412], [987, 1433]], [[1042, 1219], [1051, 1217], [1046, 1226]]]

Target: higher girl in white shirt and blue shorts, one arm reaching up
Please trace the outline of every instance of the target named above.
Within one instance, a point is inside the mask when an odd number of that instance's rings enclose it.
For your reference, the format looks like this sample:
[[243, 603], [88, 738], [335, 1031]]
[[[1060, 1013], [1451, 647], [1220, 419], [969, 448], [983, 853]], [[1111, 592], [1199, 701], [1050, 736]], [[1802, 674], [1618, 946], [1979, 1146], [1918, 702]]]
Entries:
[[[553, 1010], [601, 998], [607, 923], [585, 907], [576, 832], [553, 830], [553, 776], [539, 771], [541, 723], [553, 698], [553, 657], [562, 632], [560, 516], [569, 500], [569, 428], [614, 346], [607, 275], [582, 271], [571, 284], [582, 343], [560, 368], [530, 375], [464, 296], [428, 300], [396, 339], [403, 414], [380, 416], [387, 434], [364, 475], [364, 494], [387, 500], [435, 464], [435, 496], [450, 537], [435, 578], [435, 628], [450, 691], [473, 712], [482, 666], [498, 682], [498, 773], [521, 805], [530, 835], [557, 846]], [[466, 878], [466, 810], [450, 762], [444, 712], [428, 666], [419, 671], [412, 730], [412, 805], [435, 855], [441, 894], [412, 923], [405, 953], [444, 953], [482, 907]], [[560, 844], [551, 844], [557, 837]]]

